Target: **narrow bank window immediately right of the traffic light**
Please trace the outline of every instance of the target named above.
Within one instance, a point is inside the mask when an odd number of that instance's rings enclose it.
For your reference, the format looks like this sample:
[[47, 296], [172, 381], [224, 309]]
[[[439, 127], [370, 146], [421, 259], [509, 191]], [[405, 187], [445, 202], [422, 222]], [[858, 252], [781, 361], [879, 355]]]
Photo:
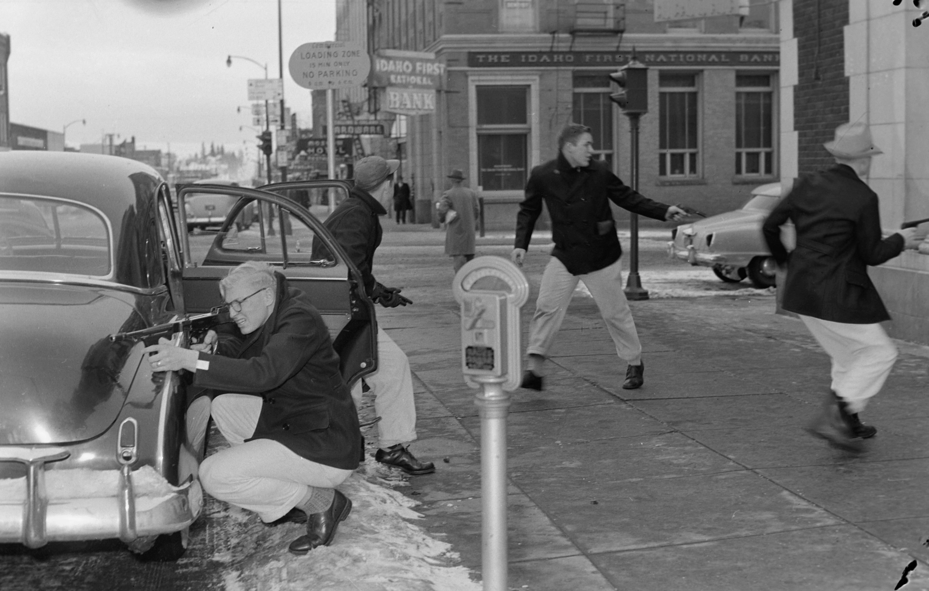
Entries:
[[697, 75], [659, 75], [660, 177], [697, 177], [700, 163]]

